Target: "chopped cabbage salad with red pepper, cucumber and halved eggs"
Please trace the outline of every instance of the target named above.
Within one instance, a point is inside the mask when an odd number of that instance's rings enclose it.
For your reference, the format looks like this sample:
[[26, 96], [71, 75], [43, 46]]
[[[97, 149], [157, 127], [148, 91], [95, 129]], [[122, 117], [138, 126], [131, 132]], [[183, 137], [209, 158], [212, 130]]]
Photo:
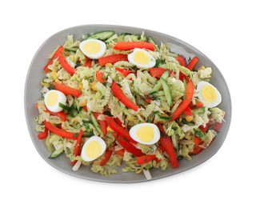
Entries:
[[213, 69], [198, 62], [144, 32], [68, 35], [44, 68], [38, 139], [74, 171], [150, 179], [150, 170], [178, 168], [210, 146], [225, 116]]

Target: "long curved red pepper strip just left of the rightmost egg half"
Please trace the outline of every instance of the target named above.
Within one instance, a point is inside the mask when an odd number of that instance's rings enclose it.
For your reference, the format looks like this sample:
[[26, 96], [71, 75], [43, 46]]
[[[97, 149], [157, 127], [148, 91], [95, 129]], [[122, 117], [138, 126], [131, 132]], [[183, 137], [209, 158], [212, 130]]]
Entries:
[[184, 100], [178, 106], [177, 110], [175, 110], [174, 113], [170, 115], [172, 117], [171, 118], [172, 121], [176, 120], [183, 113], [183, 111], [186, 110], [186, 108], [190, 105], [190, 102], [193, 98], [193, 94], [194, 94], [194, 84], [192, 81], [190, 81], [186, 85], [186, 94], [185, 94]]

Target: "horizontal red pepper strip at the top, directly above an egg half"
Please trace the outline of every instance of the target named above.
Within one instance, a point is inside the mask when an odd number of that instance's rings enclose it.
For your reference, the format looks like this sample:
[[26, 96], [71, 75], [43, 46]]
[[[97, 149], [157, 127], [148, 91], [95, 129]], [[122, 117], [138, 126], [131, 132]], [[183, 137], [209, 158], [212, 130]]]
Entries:
[[134, 48], [154, 51], [154, 44], [151, 42], [118, 42], [114, 46], [115, 50], [133, 50]]

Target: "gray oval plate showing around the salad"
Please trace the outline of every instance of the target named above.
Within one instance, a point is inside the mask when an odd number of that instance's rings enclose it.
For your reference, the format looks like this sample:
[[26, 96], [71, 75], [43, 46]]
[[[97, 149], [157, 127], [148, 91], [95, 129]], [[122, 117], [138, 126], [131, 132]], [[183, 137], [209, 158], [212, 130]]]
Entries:
[[42, 46], [40, 46], [37, 53], [34, 55], [26, 77], [24, 102], [26, 122], [30, 131], [30, 137], [32, 138], [34, 146], [36, 147], [38, 153], [42, 156], [42, 158], [46, 160], [46, 162], [48, 162], [50, 166], [54, 166], [54, 168], [78, 178], [85, 178], [100, 182], [146, 181], [146, 178], [143, 174], [122, 173], [122, 170], [118, 170], [118, 174], [113, 174], [109, 177], [93, 173], [88, 166], [82, 166], [77, 172], [74, 172], [73, 170], [71, 170], [70, 160], [67, 159], [64, 154], [55, 159], [48, 158], [49, 152], [46, 149], [45, 142], [38, 139], [37, 133], [34, 130], [37, 124], [36, 122], [34, 122], [34, 118], [38, 116], [38, 111], [35, 110], [34, 105], [41, 97], [41, 94], [39, 92], [39, 90], [41, 89], [40, 82], [42, 78], [44, 78], [43, 68], [44, 66], [46, 66], [46, 62], [48, 62], [47, 55], [50, 54], [56, 48], [56, 46], [63, 45], [63, 43], [66, 41], [67, 35], [69, 34], [73, 34], [74, 39], [80, 40], [82, 38], [82, 34], [88, 34], [92, 32], [94, 33], [102, 30], [114, 30], [118, 34], [122, 32], [142, 34], [142, 31], [144, 31], [147, 37], [150, 36], [158, 44], [160, 42], [170, 44], [172, 51], [183, 54], [186, 58], [196, 55], [200, 60], [198, 62], [198, 66], [204, 65], [212, 67], [213, 76], [210, 82], [214, 84], [214, 86], [217, 86], [219, 92], [222, 94], [222, 103], [219, 107], [226, 111], [226, 122], [224, 122], [221, 132], [218, 134], [214, 142], [206, 150], [202, 151], [202, 153], [194, 156], [192, 161], [187, 161], [186, 159], [183, 159], [182, 161], [180, 161], [180, 167], [178, 169], [170, 168], [166, 171], [150, 170], [150, 173], [153, 180], [158, 178], [164, 178], [172, 174], [178, 174], [184, 170], [189, 170], [190, 168], [198, 166], [202, 162], [205, 162], [207, 159], [211, 158], [222, 146], [222, 143], [226, 138], [226, 134], [228, 133], [231, 120], [230, 92], [220, 70], [218, 70], [217, 66], [215, 66], [214, 63], [206, 57], [206, 55], [202, 54], [199, 50], [195, 49], [193, 46], [190, 46], [186, 42], [182, 42], [178, 38], [171, 37], [167, 34], [161, 34], [153, 30], [145, 30], [129, 26], [112, 25], [75, 26], [66, 30], [62, 30], [48, 38], [46, 42], [44, 42]]

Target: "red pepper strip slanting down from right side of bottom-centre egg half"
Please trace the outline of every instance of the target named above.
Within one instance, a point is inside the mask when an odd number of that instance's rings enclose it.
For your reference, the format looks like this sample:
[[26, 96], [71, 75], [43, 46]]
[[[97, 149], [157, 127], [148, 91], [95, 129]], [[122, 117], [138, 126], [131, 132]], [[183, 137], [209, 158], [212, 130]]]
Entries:
[[162, 145], [163, 149], [166, 151], [166, 154], [169, 156], [170, 166], [173, 168], [178, 168], [178, 159], [175, 154], [174, 146], [170, 140], [170, 137], [166, 134], [162, 125], [158, 125], [160, 130], [160, 139], [159, 142]]

